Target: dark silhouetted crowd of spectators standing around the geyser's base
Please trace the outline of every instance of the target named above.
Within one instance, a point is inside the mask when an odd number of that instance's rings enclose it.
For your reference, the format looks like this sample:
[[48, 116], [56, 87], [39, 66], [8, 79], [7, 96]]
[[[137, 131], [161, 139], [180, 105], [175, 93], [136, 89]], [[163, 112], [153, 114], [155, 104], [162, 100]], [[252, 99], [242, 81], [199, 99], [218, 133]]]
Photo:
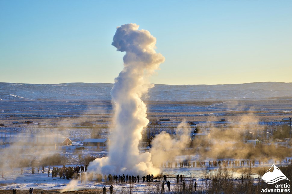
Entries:
[[[282, 164], [282, 160], [278, 160], [280, 164]], [[249, 159], [246, 159], [246, 160], [219, 160], [219, 161], [216, 161], [216, 160], [213, 160], [213, 161], [208, 161], [207, 162], [207, 165], [208, 167], [217, 167], [217, 166], [223, 166], [223, 167], [227, 167], [227, 166], [254, 166], [255, 165], [255, 162], [256, 160], [249, 160]], [[285, 159], [284, 162], [286, 164], [290, 164], [292, 165], [292, 159]], [[259, 159], [258, 160], [258, 164], [261, 165], [261, 164], [268, 164], [268, 160], [261, 160]], [[277, 164], [277, 160], [275, 160], [275, 164]], [[173, 165], [173, 162], [165, 162], [164, 165], [161, 164], [161, 168], [172, 168], [172, 165]], [[179, 168], [194, 168], [194, 167], [206, 167], [206, 161], [193, 161], [193, 162], [175, 162], [174, 163], [174, 166], [175, 168], [178, 168], [178, 165], [179, 165]], [[23, 174], [23, 168], [20, 168], [21, 170], [21, 174]], [[78, 166], [76, 165], [75, 167], [65, 167], [65, 165], [63, 165], [63, 167], [61, 168], [58, 168], [58, 167], [53, 167], [52, 171], [51, 171], [51, 168], [50, 166], [48, 166], [48, 177], [50, 177], [50, 173], [52, 175], [52, 177], [57, 177], [59, 176], [60, 178], [63, 178], [63, 179], [67, 179], [67, 180], [70, 180], [70, 179], [75, 179], [75, 180], [81, 180], [81, 183], [86, 183], [86, 181], [93, 181], [94, 179], [94, 174], [92, 172], [88, 173], [86, 172], [87, 171], [87, 165], [84, 165], [84, 166]], [[37, 168], [37, 172], [39, 173], [39, 168]], [[45, 167], [42, 166], [42, 173], [45, 172]], [[32, 167], [31, 168], [31, 173], [32, 174], [35, 174], [35, 168]], [[3, 171], [2, 171], [2, 177], [3, 177]], [[153, 182], [154, 181], [154, 175], [152, 174], [147, 174], [146, 176], [144, 175], [143, 177], [141, 177], [141, 175], [137, 175], [137, 176], [134, 176], [134, 175], [111, 175], [111, 174], [108, 174], [108, 175], [102, 175], [102, 174], [95, 174], [95, 181], [97, 182], [102, 182], [104, 181], [104, 183], [139, 183], [140, 182], [140, 178], [142, 178], [142, 182]], [[182, 188], [183, 190], [185, 190], [185, 181], [183, 180], [183, 175], [177, 175], [176, 176], [176, 182], [179, 183], [179, 180], [181, 181], [182, 183]], [[216, 180], [213, 180], [213, 181], [216, 181]], [[167, 190], [170, 191], [170, 181], [167, 180], [167, 176], [166, 175], [163, 175], [163, 181], [162, 181], [162, 184], [161, 184], [161, 191], [164, 191], [164, 186], [167, 186]], [[196, 190], [197, 188], [197, 183], [195, 182], [194, 184], [194, 188]], [[106, 187], [104, 186], [103, 188], [103, 193], [106, 193]], [[109, 187], [109, 191], [110, 191], [110, 194], [113, 193], [113, 186], [111, 185]], [[30, 188], [30, 193], [33, 192], [33, 188]], [[13, 193], [16, 193], [16, 189], [13, 190]]]

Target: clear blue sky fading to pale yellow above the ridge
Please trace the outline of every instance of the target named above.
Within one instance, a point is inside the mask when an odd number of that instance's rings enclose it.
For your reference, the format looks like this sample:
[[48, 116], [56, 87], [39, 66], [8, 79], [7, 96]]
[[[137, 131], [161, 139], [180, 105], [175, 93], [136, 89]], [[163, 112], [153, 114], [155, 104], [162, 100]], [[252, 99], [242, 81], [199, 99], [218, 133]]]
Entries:
[[156, 84], [292, 82], [292, 1], [0, 0], [0, 82], [113, 83], [116, 26], [165, 57]]

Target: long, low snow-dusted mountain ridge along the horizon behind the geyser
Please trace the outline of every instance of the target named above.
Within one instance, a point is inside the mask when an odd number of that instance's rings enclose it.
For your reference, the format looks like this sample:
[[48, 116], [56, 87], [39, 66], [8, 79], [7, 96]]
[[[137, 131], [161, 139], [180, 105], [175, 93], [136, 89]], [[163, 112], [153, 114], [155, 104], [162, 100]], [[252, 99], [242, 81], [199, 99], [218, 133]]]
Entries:
[[[18, 84], [0, 82], [1, 100], [111, 100], [110, 83]], [[292, 100], [292, 83], [225, 85], [155, 84], [144, 100]]]

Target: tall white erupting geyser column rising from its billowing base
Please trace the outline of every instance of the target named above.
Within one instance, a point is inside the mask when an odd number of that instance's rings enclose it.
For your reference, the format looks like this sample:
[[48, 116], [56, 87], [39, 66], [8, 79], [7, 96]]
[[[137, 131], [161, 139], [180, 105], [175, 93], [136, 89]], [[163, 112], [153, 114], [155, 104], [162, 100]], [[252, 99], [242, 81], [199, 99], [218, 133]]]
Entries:
[[110, 137], [109, 156], [89, 164], [89, 171], [103, 174], [158, 174], [149, 152], [139, 154], [141, 132], [149, 123], [147, 107], [141, 96], [153, 87], [148, 77], [164, 62], [155, 52], [156, 38], [135, 23], [117, 27], [112, 45], [126, 52], [124, 69], [115, 79], [111, 91], [114, 128]]

